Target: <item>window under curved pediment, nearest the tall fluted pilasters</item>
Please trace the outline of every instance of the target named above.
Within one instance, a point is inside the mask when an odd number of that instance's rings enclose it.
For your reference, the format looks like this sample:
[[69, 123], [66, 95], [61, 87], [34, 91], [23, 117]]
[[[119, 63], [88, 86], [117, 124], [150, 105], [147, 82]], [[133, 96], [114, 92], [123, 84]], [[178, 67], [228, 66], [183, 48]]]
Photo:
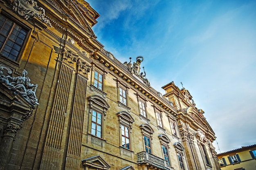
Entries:
[[101, 137], [101, 119], [102, 114], [92, 110], [92, 130], [91, 134]]

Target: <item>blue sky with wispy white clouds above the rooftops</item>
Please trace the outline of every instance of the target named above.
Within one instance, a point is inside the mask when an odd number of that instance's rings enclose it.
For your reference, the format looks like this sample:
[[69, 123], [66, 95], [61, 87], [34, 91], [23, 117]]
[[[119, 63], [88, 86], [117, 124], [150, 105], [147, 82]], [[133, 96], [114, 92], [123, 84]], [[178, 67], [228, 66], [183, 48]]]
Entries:
[[256, 144], [256, 0], [86, 0], [97, 40], [121, 62], [141, 55], [160, 93], [188, 89], [217, 153]]

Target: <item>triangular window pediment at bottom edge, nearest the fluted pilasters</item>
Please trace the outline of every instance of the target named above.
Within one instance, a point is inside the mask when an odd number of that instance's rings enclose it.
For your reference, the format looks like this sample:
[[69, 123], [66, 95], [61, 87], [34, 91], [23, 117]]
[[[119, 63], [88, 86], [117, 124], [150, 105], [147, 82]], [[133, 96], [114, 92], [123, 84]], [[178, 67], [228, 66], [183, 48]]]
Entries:
[[104, 159], [102, 159], [99, 155], [90, 157], [87, 159], [83, 159], [82, 163], [83, 163], [83, 166], [88, 166], [91, 168], [97, 168], [97, 169], [103, 168], [104, 170], [107, 170], [108, 168], [110, 168], [108, 163]]

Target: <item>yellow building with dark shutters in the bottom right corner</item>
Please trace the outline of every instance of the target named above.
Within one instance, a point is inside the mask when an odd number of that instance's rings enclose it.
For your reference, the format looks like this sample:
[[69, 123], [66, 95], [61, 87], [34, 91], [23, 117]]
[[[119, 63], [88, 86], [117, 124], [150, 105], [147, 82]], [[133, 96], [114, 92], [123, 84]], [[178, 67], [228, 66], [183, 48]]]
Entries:
[[221, 170], [255, 170], [256, 144], [217, 155]]

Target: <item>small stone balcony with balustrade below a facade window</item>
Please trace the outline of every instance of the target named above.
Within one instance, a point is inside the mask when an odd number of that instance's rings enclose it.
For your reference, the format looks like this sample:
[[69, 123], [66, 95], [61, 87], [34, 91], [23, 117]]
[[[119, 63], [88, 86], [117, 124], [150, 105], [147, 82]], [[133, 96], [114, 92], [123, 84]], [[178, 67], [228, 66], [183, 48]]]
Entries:
[[152, 154], [149, 154], [148, 152], [139, 152], [137, 153], [138, 161], [137, 163], [140, 164], [147, 164], [148, 166], [153, 166], [154, 168], [157, 169], [162, 169], [162, 170], [170, 170], [168, 168], [167, 161], [164, 159], [161, 159], [159, 157], [156, 157]]

